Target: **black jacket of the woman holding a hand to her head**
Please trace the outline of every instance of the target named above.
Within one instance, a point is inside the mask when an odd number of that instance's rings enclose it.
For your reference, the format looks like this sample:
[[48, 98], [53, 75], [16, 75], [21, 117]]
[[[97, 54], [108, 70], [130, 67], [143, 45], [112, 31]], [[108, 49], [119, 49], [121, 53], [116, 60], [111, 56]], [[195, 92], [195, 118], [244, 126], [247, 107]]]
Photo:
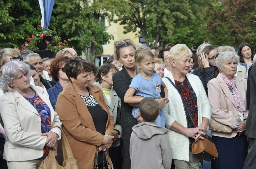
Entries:
[[204, 68], [204, 73], [201, 71], [200, 68], [196, 68], [194, 71], [193, 71], [193, 74], [194, 75], [197, 75], [201, 82], [203, 83], [203, 87], [204, 87], [204, 90], [208, 96], [208, 88], [207, 88], [207, 83], [212, 80], [213, 78], [215, 78], [215, 70], [218, 69], [216, 67], [210, 67], [210, 68]]

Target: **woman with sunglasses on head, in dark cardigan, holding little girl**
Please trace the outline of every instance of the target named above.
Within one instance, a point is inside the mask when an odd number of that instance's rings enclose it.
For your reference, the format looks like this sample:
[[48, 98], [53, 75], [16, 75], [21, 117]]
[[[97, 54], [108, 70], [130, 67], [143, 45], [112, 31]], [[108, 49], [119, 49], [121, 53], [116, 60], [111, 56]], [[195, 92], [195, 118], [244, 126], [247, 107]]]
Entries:
[[[126, 104], [124, 102], [124, 96], [129, 89], [132, 78], [135, 77], [138, 72], [134, 60], [134, 52], [136, 50], [134, 43], [131, 39], [123, 39], [114, 42], [114, 59], [123, 63], [123, 69], [116, 72], [113, 75], [113, 88], [116, 91], [118, 97], [121, 99], [121, 115], [122, 115], [122, 137], [124, 146], [124, 164], [123, 169], [131, 168], [131, 159], [129, 153], [130, 136], [132, 133], [132, 127], [137, 125], [138, 121], [132, 116], [133, 106], [139, 107], [140, 102], [137, 104]], [[140, 97], [140, 96], [136, 96]], [[142, 97], [143, 98], [143, 97]], [[164, 101], [160, 103], [165, 105]], [[141, 120], [141, 119], [138, 119]]]

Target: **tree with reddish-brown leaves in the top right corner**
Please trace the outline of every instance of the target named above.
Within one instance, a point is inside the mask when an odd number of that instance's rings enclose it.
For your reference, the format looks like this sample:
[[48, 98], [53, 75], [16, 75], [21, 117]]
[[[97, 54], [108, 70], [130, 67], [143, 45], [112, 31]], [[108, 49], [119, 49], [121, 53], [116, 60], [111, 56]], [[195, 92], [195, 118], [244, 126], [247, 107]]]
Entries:
[[237, 48], [243, 41], [255, 41], [255, 6], [255, 0], [216, 0], [205, 30], [211, 43]]

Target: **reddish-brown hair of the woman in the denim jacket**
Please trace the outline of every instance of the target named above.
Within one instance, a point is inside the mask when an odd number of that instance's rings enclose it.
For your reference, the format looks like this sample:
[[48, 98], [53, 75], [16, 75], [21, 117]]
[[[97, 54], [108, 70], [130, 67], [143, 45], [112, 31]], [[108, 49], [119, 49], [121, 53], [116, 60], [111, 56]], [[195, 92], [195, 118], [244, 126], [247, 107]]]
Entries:
[[59, 56], [55, 58], [52, 62], [50, 71], [53, 80], [58, 81], [59, 80], [59, 71], [58, 69], [67, 62], [68, 57], [67, 56]]

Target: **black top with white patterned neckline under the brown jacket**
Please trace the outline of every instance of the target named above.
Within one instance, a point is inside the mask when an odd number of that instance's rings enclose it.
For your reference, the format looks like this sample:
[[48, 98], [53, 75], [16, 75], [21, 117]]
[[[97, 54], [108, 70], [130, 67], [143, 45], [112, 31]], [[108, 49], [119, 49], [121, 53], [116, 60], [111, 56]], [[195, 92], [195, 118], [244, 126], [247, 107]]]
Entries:
[[[95, 100], [95, 98], [90, 93], [90, 91], [89, 91], [88, 97], [85, 97], [85, 96], [81, 96], [81, 97], [82, 99], [84, 99], [87, 109], [90, 112], [91, 117], [93, 118], [96, 131], [101, 133], [102, 135], [105, 135], [106, 123], [109, 118], [108, 113], [100, 107], [100, 105]], [[104, 153], [102, 151], [98, 153], [99, 164], [103, 163], [103, 155]]]

